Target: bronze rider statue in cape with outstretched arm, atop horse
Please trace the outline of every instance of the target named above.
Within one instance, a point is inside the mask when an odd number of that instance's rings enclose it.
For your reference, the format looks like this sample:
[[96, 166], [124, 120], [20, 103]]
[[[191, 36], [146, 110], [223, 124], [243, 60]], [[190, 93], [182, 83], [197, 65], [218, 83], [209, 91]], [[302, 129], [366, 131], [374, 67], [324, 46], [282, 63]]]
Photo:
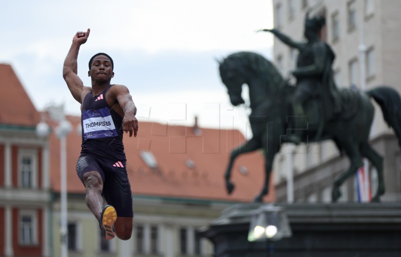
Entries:
[[[330, 46], [319, 38], [319, 32], [324, 24], [323, 17], [309, 19], [307, 13], [304, 31], [307, 42], [301, 43], [294, 42], [278, 30], [262, 30], [273, 33], [284, 44], [299, 50], [297, 68], [292, 71], [297, 79], [297, 87], [292, 99], [293, 113], [295, 117], [305, 118], [303, 104], [315, 97], [317, 93], [323, 108], [323, 117], [321, 117], [320, 123], [330, 120], [340, 111], [340, 97], [332, 71], [335, 54]], [[288, 139], [298, 144], [301, 142], [302, 129], [293, 131], [294, 133], [289, 135]]]

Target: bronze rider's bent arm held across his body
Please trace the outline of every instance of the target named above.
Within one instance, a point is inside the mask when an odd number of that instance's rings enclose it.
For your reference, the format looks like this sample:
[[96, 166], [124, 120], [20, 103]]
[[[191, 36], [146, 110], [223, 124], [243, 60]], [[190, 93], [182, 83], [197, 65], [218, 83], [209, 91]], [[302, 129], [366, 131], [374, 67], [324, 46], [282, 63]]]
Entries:
[[327, 60], [327, 51], [322, 42], [315, 43], [312, 46], [314, 62], [312, 65], [298, 67], [292, 74], [295, 77], [303, 77], [303, 76], [315, 76], [320, 75], [324, 71], [325, 62]]

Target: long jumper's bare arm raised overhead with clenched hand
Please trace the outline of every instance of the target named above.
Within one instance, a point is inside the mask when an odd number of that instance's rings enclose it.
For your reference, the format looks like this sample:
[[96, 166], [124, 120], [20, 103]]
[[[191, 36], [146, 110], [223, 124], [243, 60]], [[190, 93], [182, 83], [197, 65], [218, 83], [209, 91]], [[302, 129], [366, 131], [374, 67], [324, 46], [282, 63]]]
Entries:
[[79, 48], [88, 40], [89, 33], [90, 29], [88, 29], [86, 32], [77, 32], [77, 34], [75, 34], [63, 66], [63, 78], [66, 81], [72, 96], [79, 103], [82, 102], [81, 98], [84, 90], [84, 84], [77, 75], [77, 59]]

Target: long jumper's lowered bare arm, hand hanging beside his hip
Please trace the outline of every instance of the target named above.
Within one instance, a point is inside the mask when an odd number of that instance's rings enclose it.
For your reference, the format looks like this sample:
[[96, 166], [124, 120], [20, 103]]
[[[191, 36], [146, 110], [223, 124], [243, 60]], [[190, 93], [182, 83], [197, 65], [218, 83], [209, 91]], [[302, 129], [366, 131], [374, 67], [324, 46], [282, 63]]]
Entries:
[[122, 130], [126, 133], [129, 132], [130, 137], [132, 133], [134, 137], [136, 137], [136, 133], [138, 132], [138, 120], [135, 117], [136, 106], [132, 101], [132, 96], [128, 88], [123, 85], [114, 85], [110, 88], [109, 93], [110, 97], [114, 99], [114, 101], [117, 101], [121, 108], [122, 113], [120, 113], [120, 115], [123, 117]]

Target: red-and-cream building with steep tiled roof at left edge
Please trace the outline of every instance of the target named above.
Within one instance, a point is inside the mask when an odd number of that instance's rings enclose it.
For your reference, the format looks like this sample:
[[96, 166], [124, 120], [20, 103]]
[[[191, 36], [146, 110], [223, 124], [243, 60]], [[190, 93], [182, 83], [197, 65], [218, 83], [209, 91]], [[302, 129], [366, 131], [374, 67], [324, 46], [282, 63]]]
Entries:
[[48, 141], [10, 65], [0, 64], [0, 256], [51, 256]]

